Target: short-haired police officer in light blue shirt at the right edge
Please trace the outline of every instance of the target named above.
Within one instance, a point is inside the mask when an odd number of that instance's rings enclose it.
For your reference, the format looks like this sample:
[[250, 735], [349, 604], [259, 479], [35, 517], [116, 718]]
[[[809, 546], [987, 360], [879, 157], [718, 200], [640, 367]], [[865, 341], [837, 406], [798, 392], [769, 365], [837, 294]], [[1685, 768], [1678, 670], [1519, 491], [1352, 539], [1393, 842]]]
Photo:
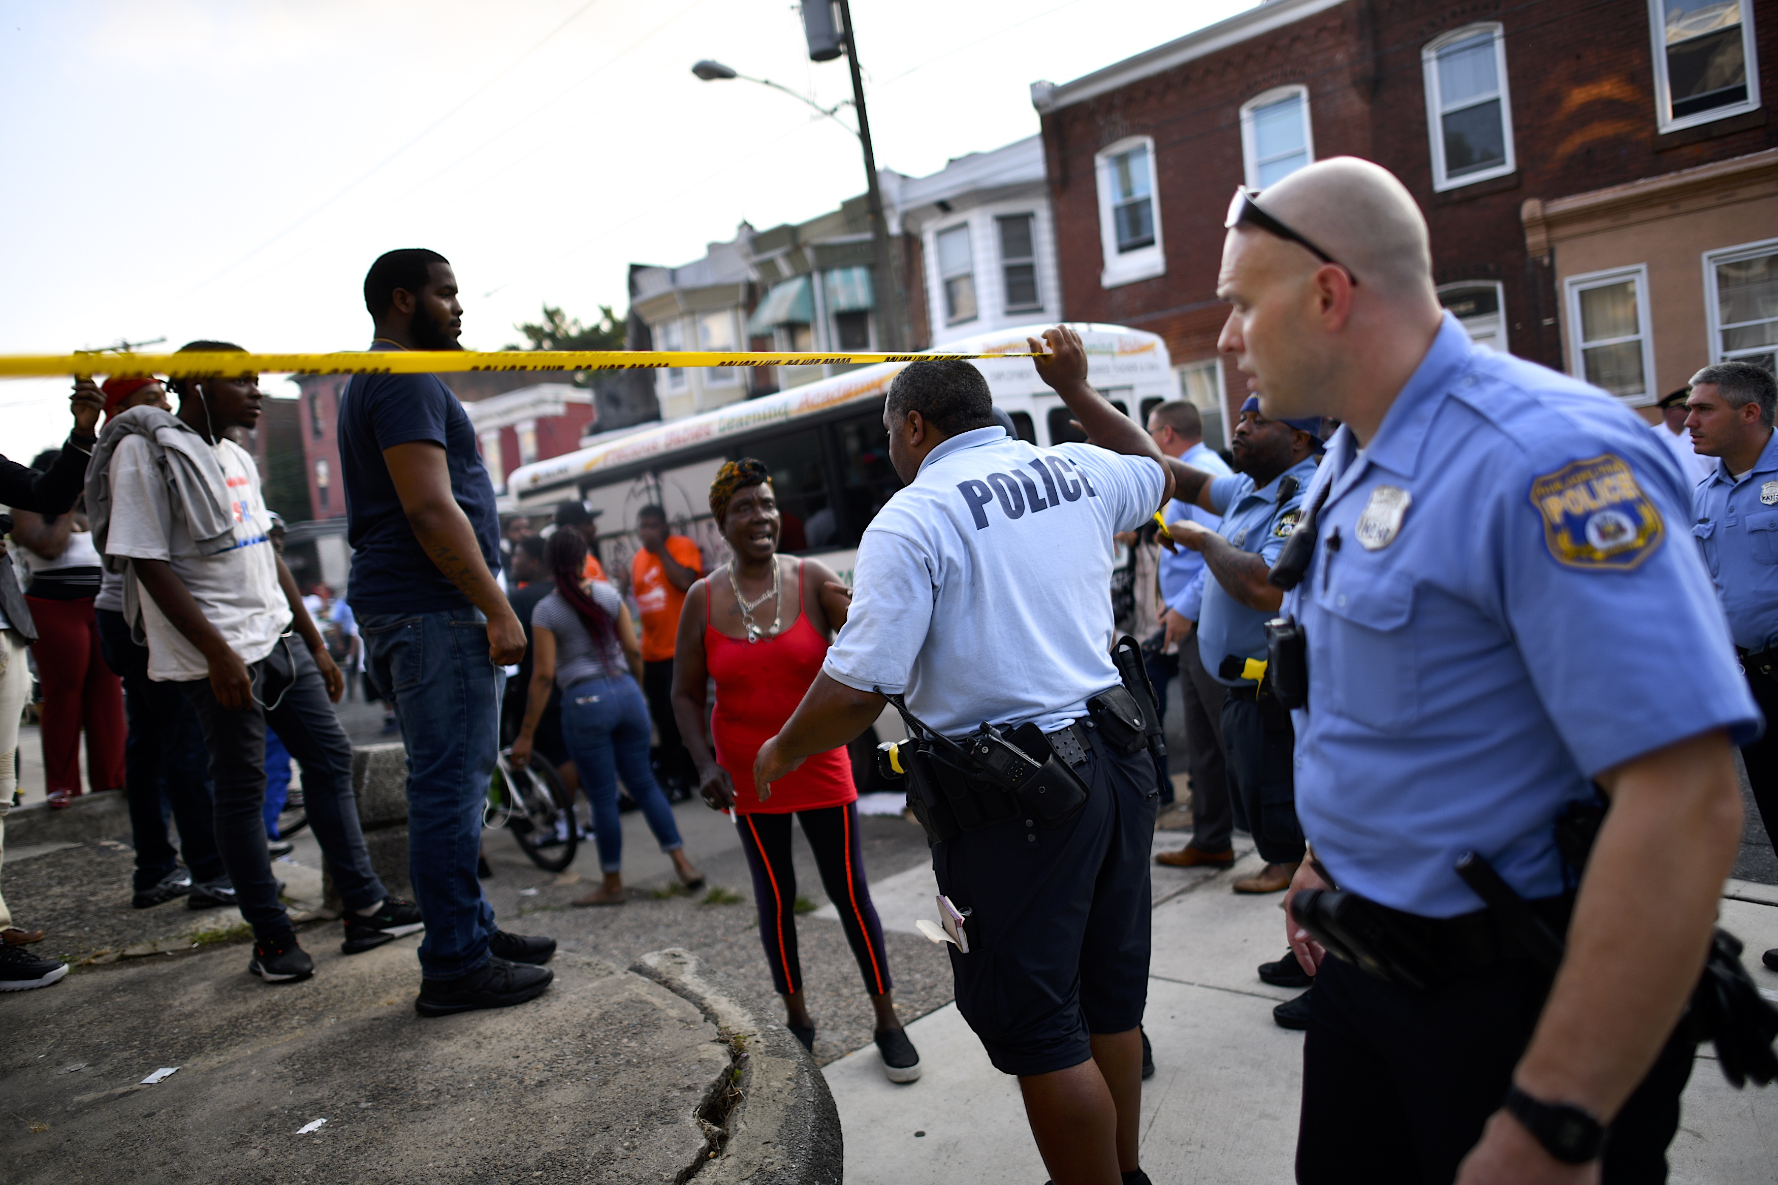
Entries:
[[[1691, 496], [1693, 528], [1748, 691], [1778, 718], [1778, 387], [1764, 366], [1718, 362], [1691, 377], [1686, 426], [1714, 467]], [[1659, 428], [1666, 432], [1664, 426]], [[1741, 746], [1767, 839], [1778, 839], [1778, 728]], [[1766, 952], [1778, 970], [1778, 950]]]

